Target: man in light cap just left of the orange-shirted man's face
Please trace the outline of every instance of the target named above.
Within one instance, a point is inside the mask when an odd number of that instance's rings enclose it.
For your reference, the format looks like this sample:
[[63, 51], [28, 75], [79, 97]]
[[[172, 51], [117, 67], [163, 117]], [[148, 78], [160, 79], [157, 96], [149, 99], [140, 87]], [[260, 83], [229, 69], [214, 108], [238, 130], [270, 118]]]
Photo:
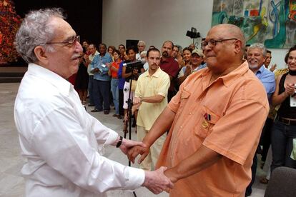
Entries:
[[179, 72], [178, 84], [181, 85], [189, 74], [192, 74], [200, 69], [204, 69], [207, 64], [202, 65], [202, 61], [204, 61], [204, 54], [202, 53], [202, 50], [194, 49], [190, 57], [189, 66], [184, 66]]

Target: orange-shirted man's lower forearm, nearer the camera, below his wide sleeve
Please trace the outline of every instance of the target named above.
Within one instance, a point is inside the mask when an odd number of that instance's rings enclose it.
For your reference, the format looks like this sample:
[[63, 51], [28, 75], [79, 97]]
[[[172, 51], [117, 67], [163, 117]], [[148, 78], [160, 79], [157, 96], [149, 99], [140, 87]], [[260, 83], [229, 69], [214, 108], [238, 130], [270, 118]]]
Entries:
[[202, 145], [192, 156], [184, 159], [177, 166], [170, 168], [167, 171], [167, 175], [169, 178], [172, 178], [173, 182], [176, 182], [179, 179], [203, 171], [216, 163], [221, 157], [219, 153]]

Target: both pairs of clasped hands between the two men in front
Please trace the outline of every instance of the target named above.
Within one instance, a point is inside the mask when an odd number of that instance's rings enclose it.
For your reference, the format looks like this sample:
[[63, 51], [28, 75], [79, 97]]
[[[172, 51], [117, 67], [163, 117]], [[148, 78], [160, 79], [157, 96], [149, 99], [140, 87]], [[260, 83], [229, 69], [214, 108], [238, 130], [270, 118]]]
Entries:
[[[134, 158], [139, 154], [141, 157], [138, 163], [141, 163], [149, 153], [149, 147], [144, 143], [128, 139], [123, 139], [122, 146], [119, 146], [119, 148], [127, 155], [129, 161], [132, 161], [132, 163], [134, 163]], [[149, 191], [152, 191], [154, 194], [169, 191], [170, 188], [173, 188], [174, 184], [171, 179], [168, 178], [167, 172], [167, 167], [160, 167], [156, 171], [145, 171], [145, 180], [142, 186], [148, 188]]]

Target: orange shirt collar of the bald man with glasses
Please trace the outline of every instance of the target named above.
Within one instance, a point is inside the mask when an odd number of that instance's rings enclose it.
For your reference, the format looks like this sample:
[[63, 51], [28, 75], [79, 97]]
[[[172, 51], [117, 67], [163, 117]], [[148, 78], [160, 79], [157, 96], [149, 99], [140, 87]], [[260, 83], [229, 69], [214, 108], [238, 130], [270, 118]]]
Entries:
[[[249, 71], [249, 64], [247, 64], [247, 61], [245, 61], [240, 66], [238, 66], [237, 69], [231, 71], [225, 76], [219, 76], [218, 79], [216, 79], [215, 81], [222, 80], [223, 84], [228, 87], [237, 79], [239, 79], [243, 74], [247, 73], [247, 71]], [[204, 72], [203, 75], [205, 76], [208, 74], [211, 74], [211, 71], [209, 71], [209, 69], [207, 69], [207, 71]]]

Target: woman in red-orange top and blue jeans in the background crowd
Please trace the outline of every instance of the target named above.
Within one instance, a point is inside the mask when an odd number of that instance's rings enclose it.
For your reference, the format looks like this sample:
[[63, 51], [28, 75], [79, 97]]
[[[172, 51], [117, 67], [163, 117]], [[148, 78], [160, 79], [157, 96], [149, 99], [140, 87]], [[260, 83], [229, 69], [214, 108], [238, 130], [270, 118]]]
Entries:
[[113, 103], [114, 103], [114, 107], [115, 107], [115, 113], [113, 116], [121, 119], [122, 116], [120, 116], [120, 114], [119, 114], [119, 89], [118, 89], [119, 79], [118, 79], [117, 73], [118, 73], [119, 65], [122, 63], [122, 60], [119, 58], [119, 54], [120, 53], [117, 49], [115, 49], [113, 51], [114, 61], [112, 62], [111, 66], [109, 67], [108, 74], [109, 74], [109, 76], [112, 77], [111, 91], [112, 91]]

